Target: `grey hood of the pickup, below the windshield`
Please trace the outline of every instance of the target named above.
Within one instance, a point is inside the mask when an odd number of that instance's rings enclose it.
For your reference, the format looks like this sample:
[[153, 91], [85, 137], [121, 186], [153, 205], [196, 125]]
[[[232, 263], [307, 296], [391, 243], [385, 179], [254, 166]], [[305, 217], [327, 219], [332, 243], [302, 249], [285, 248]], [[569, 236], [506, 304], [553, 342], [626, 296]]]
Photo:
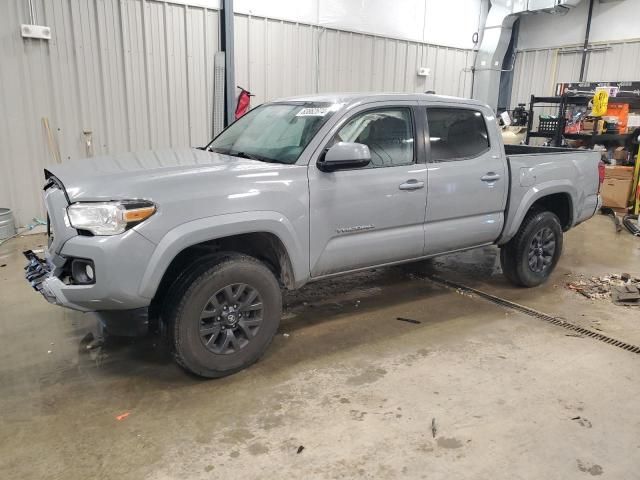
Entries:
[[[260, 162], [192, 148], [161, 149], [73, 160], [47, 169], [64, 185], [69, 200], [157, 201], [176, 190], [229, 185], [230, 177], [260, 174], [292, 165]], [[242, 188], [239, 182], [238, 187]], [[205, 187], [205, 188], [206, 188]]]

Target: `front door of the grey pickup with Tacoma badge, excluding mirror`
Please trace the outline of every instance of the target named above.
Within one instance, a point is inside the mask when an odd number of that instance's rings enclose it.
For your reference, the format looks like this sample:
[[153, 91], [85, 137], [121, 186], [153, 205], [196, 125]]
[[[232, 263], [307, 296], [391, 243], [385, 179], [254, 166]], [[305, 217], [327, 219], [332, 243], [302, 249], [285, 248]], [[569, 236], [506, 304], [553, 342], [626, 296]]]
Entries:
[[363, 143], [371, 164], [330, 173], [309, 165], [312, 277], [422, 255], [427, 172], [414, 113], [409, 103], [361, 107], [339, 122], [325, 148]]

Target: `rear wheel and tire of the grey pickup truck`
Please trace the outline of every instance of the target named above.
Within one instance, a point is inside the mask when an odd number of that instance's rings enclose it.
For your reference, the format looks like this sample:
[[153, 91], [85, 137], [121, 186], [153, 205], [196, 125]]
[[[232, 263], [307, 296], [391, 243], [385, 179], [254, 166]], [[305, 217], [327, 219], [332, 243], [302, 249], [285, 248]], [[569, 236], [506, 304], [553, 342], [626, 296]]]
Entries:
[[500, 250], [504, 276], [519, 287], [546, 282], [562, 253], [562, 226], [551, 212], [527, 214], [520, 230]]

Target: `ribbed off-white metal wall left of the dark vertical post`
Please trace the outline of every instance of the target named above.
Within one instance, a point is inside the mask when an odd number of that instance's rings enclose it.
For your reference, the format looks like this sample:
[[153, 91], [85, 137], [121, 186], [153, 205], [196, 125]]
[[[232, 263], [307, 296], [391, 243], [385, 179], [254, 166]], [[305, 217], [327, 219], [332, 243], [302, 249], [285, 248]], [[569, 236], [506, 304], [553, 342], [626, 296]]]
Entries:
[[54, 161], [43, 117], [63, 161], [210, 138], [218, 11], [156, 0], [34, 3], [48, 42], [21, 38], [26, 1], [0, 2], [0, 205], [19, 224], [43, 214], [42, 169]]

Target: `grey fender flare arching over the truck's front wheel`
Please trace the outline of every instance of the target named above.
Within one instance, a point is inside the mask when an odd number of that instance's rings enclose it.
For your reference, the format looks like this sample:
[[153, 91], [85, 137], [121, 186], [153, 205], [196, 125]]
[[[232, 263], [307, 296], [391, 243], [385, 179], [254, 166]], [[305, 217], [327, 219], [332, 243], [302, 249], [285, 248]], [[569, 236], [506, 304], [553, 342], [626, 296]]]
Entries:
[[289, 255], [294, 281], [309, 276], [305, 265], [303, 245], [291, 222], [281, 213], [273, 211], [240, 212], [200, 218], [169, 230], [156, 246], [140, 283], [139, 295], [152, 299], [167, 268], [184, 249], [218, 238], [243, 233], [271, 233], [277, 236]]

